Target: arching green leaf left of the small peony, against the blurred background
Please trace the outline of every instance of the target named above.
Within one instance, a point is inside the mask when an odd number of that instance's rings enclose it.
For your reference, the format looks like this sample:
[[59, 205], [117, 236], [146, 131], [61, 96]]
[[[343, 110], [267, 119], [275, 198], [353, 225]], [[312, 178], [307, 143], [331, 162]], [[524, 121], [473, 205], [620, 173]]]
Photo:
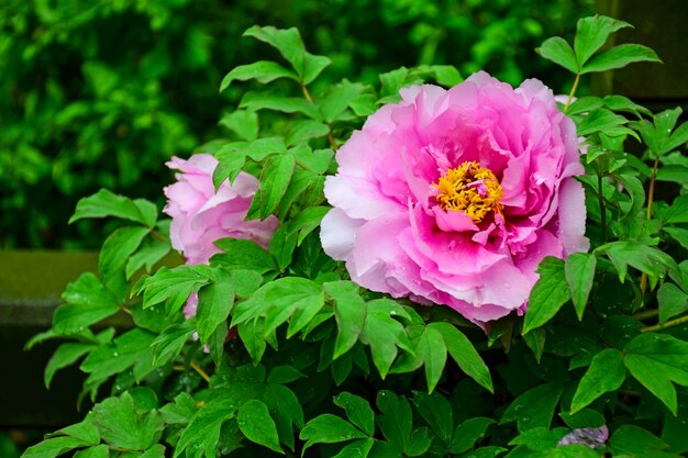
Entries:
[[149, 216], [146, 217], [131, 199], [118, 196], [107, 189], [101, 189], [93, 196], [79, 200], [74, 215], [69, 219], [69, 224], [85, 217], [106, 216], [120, 217], [151, 226]]

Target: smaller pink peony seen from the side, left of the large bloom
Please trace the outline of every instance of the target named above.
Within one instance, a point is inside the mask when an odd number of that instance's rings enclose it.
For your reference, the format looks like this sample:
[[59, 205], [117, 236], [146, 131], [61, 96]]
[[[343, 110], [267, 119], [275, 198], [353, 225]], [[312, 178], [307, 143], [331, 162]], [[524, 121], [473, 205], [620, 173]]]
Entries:
[[225, 180], [215, 193], [212, 172], [218, 159], [197, 154], [184, 160], [178, 157], [167, 167], [180, 170], [177, 182], [165, 188], [168, 199], [164, 212], [171, 216], [169, 236], [175, 249], [184, 253], [188, 264], [204, 264], [220, 253], [219, 238], [251, 239], [267, 247], [279, 222], [273, 215], [265, 221], [244, 221], [258, 180], [240, 172], [234, 183]]

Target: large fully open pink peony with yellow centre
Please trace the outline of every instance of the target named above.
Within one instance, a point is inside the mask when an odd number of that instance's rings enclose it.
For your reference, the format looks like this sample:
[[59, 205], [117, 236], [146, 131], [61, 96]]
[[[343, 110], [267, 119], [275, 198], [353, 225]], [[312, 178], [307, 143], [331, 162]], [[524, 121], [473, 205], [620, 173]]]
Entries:
[[587, 250], [573, 121], [542, 82], [412, 86], [337, 152], [324, 250], [356, 283], [482, 324], [525, 310], [545, 256]]

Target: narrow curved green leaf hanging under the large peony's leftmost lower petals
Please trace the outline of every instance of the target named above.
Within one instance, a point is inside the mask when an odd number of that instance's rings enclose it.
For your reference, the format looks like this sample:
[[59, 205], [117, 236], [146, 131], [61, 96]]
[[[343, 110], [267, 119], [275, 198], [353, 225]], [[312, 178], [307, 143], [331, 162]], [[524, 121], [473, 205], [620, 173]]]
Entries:
[[336, 359], [358, 340], [366, 320], [367, 305], [358, 293], [358, 287], [351, 281], [324, 283], [323, 289], [334, 300], [337, 336], [332, 359]]

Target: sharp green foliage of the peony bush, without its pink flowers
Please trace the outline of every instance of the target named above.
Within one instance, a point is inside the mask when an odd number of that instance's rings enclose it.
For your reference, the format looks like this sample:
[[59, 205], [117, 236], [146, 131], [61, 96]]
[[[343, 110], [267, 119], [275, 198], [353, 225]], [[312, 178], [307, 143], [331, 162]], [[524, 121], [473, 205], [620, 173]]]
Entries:
[[[429, 4], [417, 5], [420, 12], [388, 4], [386, 20], [437, 19]], [[642, 47], [600, 51], [626, 26], [582, 19], [573, 46], [551, 38], [541, 54], [577, 79], [655, 60]], [[329, 210], [323, 186], [340, 145], [399, 88], [454, 85], [458, 69], [423, 62], [373, 81], [329, 80], [337, 56], [309, 53], [296, 29], [255, 26], [245, 35], [276, 62], [259, 55], [230, 70], [222, 89], [241, 97], [222, 116], [229, 138], [202, 150], [219, 160], [215, 187], [242, 170], [258, 178], [248, 217], [274, 215], [279, 228], [267, 247], [225, 238], [209, 264], [179, 265], [165, 257], [168, 222], [153, 203], [109, 191], [81, 200], [74, 221], [124, 225], [106, 238], [98, 275], [67, 287], [53, 329], [32, 345], [64, 339], [45, 382], [79, 364], [88, 375], [82, 396], [96, 404], [25, 457], [688, 451], [688, 130], [679, 110], [653, 115], [618, 96], [580, 97], [564, 108], [585, 135], [579, 180], [591, 249], [545, 258], [525, 316], [480, 328], [448, 308], [362, 289], [319, 241]], [[439, 40], [424, 53], [441, 56]], [[625, 150], [639, 139], [643, 153]], [[680, 185], [678, 196], [656, 192], [663, 182]], [[107, 326], [124, 315], [133, 328]], [[595, 448], [561, 445], [601, 426], [610, 437], [592, 440]]]

